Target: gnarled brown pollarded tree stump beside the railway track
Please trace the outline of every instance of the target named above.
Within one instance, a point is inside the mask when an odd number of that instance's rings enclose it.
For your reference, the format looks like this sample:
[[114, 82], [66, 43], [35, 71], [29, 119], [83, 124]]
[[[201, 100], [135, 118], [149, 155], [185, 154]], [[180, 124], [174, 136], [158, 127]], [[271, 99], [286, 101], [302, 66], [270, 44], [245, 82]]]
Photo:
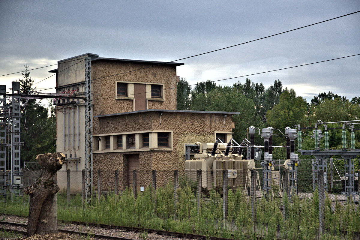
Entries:
[[63, 153], [45, 153], [36, 156], [42, 166], [41, 175], [34, 184], [26, 187], [25, 194], [30, 196], [27, 236], [34, 234], [58, 233], [57, 196], [59, 191], [56, 175], [63, 166]]

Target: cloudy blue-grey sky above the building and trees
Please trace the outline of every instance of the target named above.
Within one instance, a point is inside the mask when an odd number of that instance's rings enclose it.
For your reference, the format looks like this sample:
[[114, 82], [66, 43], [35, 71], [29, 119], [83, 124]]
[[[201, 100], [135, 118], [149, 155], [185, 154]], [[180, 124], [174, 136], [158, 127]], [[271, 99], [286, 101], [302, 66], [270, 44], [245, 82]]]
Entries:
[[[23, 71], [25, 61], [32, 69], [85, 53], [168, 62], [359, 10], [359, 0], [0, 0], [0, 75]], [[181, 60], [185, 64], [177, 75], [195, 84], [354, 54], [360, 54], [360, 13]], [[38, 82], [55, 68], [33, 70], [30, 76]], [[19, 78], [20, 73], [3, 76], [0, 84], [10, 87]], [[324, 91], [351, 99], [360, 96], [360, 55], [248, 78], [265, 87], [279, 79], [307, 101]], [[55, 87], [55, 76], [36, 87]]]

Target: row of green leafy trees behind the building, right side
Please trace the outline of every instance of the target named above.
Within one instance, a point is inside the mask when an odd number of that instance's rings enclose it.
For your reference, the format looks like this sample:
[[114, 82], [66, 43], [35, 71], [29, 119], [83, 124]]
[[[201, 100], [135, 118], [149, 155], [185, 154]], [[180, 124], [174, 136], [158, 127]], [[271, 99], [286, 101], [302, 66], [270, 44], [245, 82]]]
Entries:
[[[294, 128], [295, 124], [313, 127], [317, 120], [358, 120], [360, 97], [348, 100], [345, 96], [333, 94], [331, 91], [320, 92], [308, 103], [306, 99], [297, 96], [294, 89], [284, 88], [280, 80], [275, 80], [274, 84], [267, 88], [262, 83], [251, 82], [249, 78], [246, 78], [244, 83], [238, 81], [232, 86], [217, 86], [216, 83], [207, 80], [197, 82], [192, 88], [188, 81], [181, 78], [177, 84], [177, 109], [240, 112], [239, 115], [233, 116], [233, 137], [242, 140], [246, 137], [249, 126], [260, 129], [271, 126], [284, 132], [285, 127]], [[328, 127], [338, 125], [329, 124]], [[274, 130], [274, 145], [284, 145], [285, 138], [280, 131]], [[303, 131], [303, 145], [314, 148], [313, 140], [308, 136], [312, 135], [312, 130]], [[341, 130], [329, 131], [329, 138], [330, 147], [336, 148], [341, 145]], [[360, 131], [355, 132], [355, 138], [360, 148]], [[262, 142], [258, 134], [255, 141], [259, 145]]]

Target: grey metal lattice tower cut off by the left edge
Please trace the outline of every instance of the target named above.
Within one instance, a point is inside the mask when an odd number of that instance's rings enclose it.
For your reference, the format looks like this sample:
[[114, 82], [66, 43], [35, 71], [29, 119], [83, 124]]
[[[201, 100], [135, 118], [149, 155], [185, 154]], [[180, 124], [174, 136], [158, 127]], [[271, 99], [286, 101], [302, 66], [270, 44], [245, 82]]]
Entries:
[[0, 85], [0, 196], [6, 194], [6, 86]]

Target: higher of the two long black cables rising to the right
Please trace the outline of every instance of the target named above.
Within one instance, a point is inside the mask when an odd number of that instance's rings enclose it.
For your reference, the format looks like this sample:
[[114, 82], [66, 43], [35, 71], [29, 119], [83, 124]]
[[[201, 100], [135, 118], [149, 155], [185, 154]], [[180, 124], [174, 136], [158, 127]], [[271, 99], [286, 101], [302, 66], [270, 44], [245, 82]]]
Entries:
[[[140, 70], [143, 70], [143, 69], [152, 68], [152, 67], [156, 67], [156, 66], [159, 66], [159, 65], [164, 65], [164, 64], [167, 64], [167, 63], [173, 63], [173, 62], [176, 62], [176, 61], [180, 61], [180, 60], [184, 60], [184, 59], [188, 59], [188, 58], [193, 58], [193, 57], [195, 57], [195, 56], [200, 56], [200, 55], [204, 55], [204, 54], [208, 54], [208, 53], [213, 53], [213, 52], [216, 52], [216, 51], [228, 49], [228, 48], [230, 48], [230, 47], [240, 46], [240, 45], [243, 45], [243, 44], [247, 44], [247, 43], [249, 43], [249, 42], [255, 42], [255, 41], [258, 41], [258, 40], [262, 40], [262, 39], [266, 39], [266, 38], [269, 38], [269, 37], [277, 36], [277, 35], [280, 35], [280, 34], [283, 34], [283, 33], [292, 32], [292, 31], [295, 31], [295, 30], [299, 30], [299, 29], [301, 29], [301, 28], [306, 28], [306, 27], [314, 26], [314, 25], [316, 25], [316, 24], [328, 22], [328, 21], [331, 21], [331, 20], [334, 20], [334, 19], [337, 19], [337, 18], [346, 17], [346, 16], [348, 16], [348, 15], [352, 15], [352, 14], [359, 13], [359, 12], [360, 12], [360, 10], [359, 10], [359, 11], [356, 11], [356, 12], [353, 12], [353, 13], [348, 13], [348, 14], [345, 14], [345, 15], [341, 15], [341, 16], [339, 16], [339, 17], [330, 18], [330, 19], [327, 19], [327, 20], [324, 20], [324, 21], [312, 23], [312, 24], [309, 24], [309, 25], [306, 25], [306, 26], [303, 26], [303, 27], [294, 28], [294, 29], [292, 29], [292, 30], [288, 30], [288, 31], [284, 31], [284, 32], [279, 32], [279, 33], [275, 33], [275, 34], [273, 34], [273, 35], [269, 35], [269, 36], [266, 36], [266, 37], [261, 37], [261, 38], [258, 38], [258, 39], [254, 39], [254, 40], [242, 42], [242, 43], [240, 43], [240, 44], [235, 44], [235, 45], [231, 45], [231, 46], [228, 46], [228, 47], [222, 47], [222, 48], [220, 48], [220, 49], [216, 49], [216, 50], [212, 50], [212, 51], [207, 51], [207, 52], [205, 52], [205, 53], [195, 54], [195, 55], [188, 56], [188, 57], [185, 57], [185, 58], [180, 58], [180, 59], [172, 60], [172, 61], [170, 61], [170, 62], [159, 63], [159, 64], [151, 65], [151, 66], [148, 66], [148, 67], [144, 67], [144, 68], [139, 68], [139, 69], [134, 69], [134, 70], [131, 70], [131, 71], [126, 71], [126, 72], [122, 72], [122, 73], [112, 74], [112, 75], [109, 75], [109, 76], [104, 76], [104, 77], [99, 77], [99, 78], [93, 78], [93, 79], [91, 79], [91, 81], [98, 80], [98, 79], [102, 79], [102, 78], [107, 78], [107, 77], [113, 77], [113, 76], [117, 76], [117, 75], [120, 75], [120, 74], [125, 74], [125, 73], [140, 71]], [[43, 80], [42, 80], [42, 81], [43, 81]], [[49, 88], [49, 89], [53, 89], [53, 88]], [[49, 89], [44, 89], [44, 90], [49, 90]], [[41, 91], [44, 91], [44, 90], [41, 90]]]

